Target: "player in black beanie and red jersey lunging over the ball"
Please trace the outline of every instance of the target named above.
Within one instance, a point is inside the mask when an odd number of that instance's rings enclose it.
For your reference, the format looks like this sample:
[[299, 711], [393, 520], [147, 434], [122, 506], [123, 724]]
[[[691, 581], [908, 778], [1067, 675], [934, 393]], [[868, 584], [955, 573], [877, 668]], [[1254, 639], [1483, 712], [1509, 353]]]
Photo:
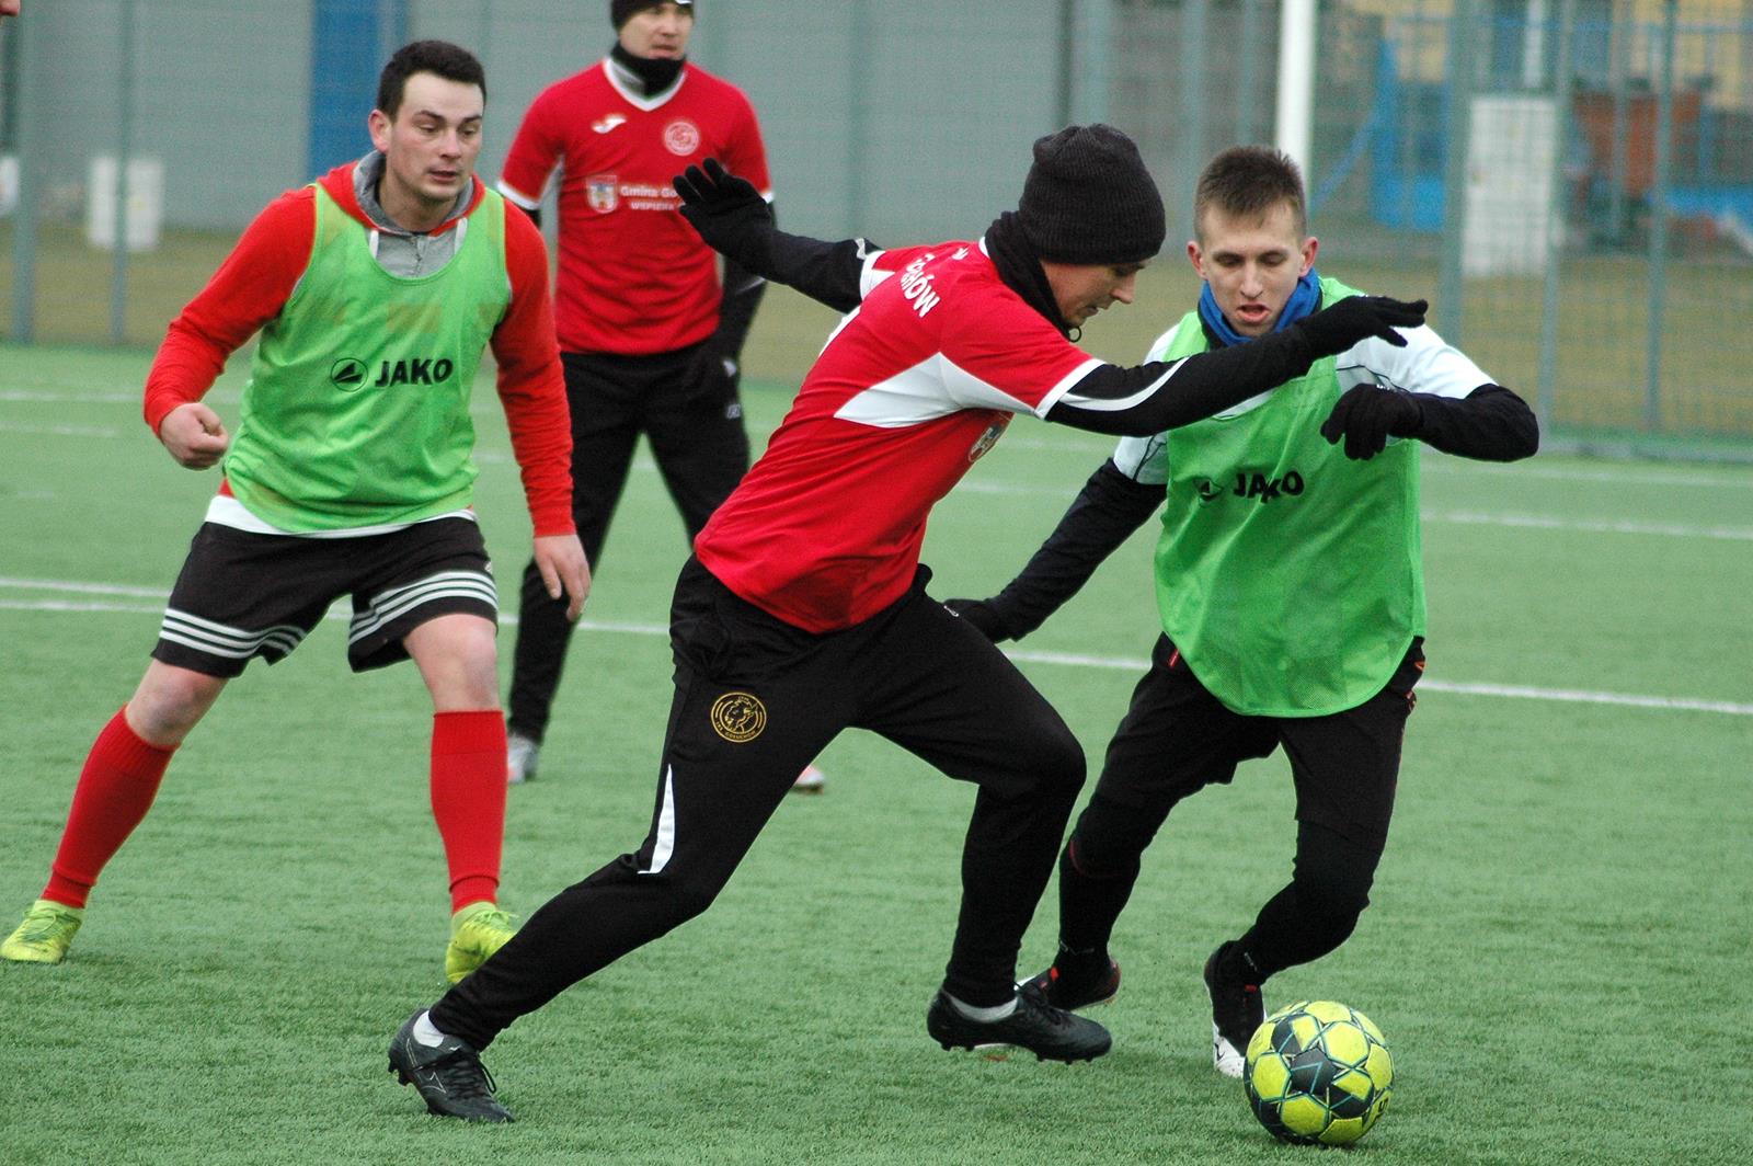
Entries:
[[694, 540], [671, 607], [675, 698], [643, 845], [568, 887], [396, 1033], [389, 1059], [435, 1113], [508, 1120], [480, 1050], [519, 1015], [712, 905], [841, 729], [978, 786], [962, 908], [926, 1031], [1087, 1061], [1094, 1020], [1015, 984], [1083, 752], [978, 628], [926, 594], [926, 519], [1017, 414], [1160, 433], [1301, 375], [1422, 303], [1352, 298], [1250, 345], [1138, 368], [1069, 333], [1129, 303], [1162, 247], [1162, 200], [1111, 126], [1034, 146], [1018, 210], [983, 238], [878, 251], [773, 230], [757, 189], [708, 161], [677, 179], [689, 221], [749, 270], [841, 310], [766, 452]]

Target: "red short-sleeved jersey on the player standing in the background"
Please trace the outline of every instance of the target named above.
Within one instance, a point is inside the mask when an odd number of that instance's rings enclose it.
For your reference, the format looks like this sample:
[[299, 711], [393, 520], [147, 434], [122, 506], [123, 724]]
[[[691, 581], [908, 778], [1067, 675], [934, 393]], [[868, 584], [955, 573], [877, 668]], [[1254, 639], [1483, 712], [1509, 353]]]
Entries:
[[677, 210], [671, 186], [706, 158], [771, 196], [754, 107], [698, 65], [645, 98], [605, 60], [531, 102], [500, 191], [533, 210], [559, 175], [554, 321], [563, 351], [671, 352], [719, 326], [713, 251]]

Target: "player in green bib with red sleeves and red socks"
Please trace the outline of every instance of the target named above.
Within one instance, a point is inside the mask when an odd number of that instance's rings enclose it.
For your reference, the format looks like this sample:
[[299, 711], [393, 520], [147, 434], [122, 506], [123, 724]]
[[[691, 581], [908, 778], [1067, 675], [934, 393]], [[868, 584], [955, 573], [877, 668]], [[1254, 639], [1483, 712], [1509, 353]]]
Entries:
[[[512, 935], [496, 906], [505, 822], [486, 545], [470, 500], [468, 396], [482, 349], [522, 468], [545, 586], [578, 615], [566, 398], [542, 235], [475, 181], [486, 81], [442, 40], [400, 49], [370, 116], [377, 149], [270, 203], [170, 324], [145, 421], [191, 470], [224, 461], [153, 661], [98, 735], [42, 898], [0, 957], [60, 963], [105, 863], [145, 817], [188, 733], [251, 659], [286, 658], [352, 596], [354, 672], [412, 658], [433, 698], [431, 805], [451, 868], [445, 973]], [[202, 403], [261, 344], [238, 430]]]

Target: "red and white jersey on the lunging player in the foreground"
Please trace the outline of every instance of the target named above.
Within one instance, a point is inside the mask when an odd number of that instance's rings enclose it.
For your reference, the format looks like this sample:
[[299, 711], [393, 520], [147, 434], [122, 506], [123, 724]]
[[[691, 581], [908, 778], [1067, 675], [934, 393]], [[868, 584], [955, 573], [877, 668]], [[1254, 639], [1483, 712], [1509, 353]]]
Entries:
[[694, 552], [726, 587], [813, 633], [913, 580], [931, 507], [1004, 433], [1101, 365], [976, 242], [880, 251], [766, 452]]

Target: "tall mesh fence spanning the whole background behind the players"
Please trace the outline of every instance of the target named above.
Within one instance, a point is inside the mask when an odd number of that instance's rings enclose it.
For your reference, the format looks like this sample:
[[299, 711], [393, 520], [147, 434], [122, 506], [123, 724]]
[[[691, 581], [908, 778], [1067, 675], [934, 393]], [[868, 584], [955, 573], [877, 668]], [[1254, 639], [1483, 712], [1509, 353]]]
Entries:
[[[482, 54], [493, 175], [535, 91], [608, 47], [600, 7], [26, 5], [0, 26], [0, 328], [154, 342], [259, 205], [363, 149], [361, 84], [401, 37]], [[749, 89], [810, 233], [978, 231], [1036, 135], [1106, 119], [1176, 240], [1203, 161], [1273, 140], [1278, 4], [1004, 9], [710, 0], [694, 56]], [[1753, 0], [1329, 0], [1311, 142], [1322, 267], [1434, 293], [1560, 444], [1749, 456]]]

